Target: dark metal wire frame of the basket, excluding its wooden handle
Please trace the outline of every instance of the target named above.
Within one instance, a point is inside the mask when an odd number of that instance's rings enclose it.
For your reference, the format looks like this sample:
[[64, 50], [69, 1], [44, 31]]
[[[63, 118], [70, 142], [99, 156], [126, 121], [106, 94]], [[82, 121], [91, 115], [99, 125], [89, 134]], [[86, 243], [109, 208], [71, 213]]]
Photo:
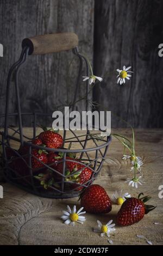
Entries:
[[[79, 53], [78, 51], [78, 47], [75, 47], [72, 52], [78, 56], [79, 58], [79, 72], [78, 72], [78, 78], [77, 78], [77, 84], [76, 84], [76, 90], [74, 93], [74, 100], [73, 100], [73, 105], [72, 105], [72, 110], [74, 109], [75, 106], [75, 100], [77, 97], [77, 93], [78, 93], [78, 85], [79, 85], [79, 79], [80, 79], [80, 75], [82, 74], [82, 68], [83, 68], [83, 60], [85, 62], [86, 65], [86, 75], [88, 76], [89, 74], [89, 64], [87, 62], [87, 59]], [[36, 120], [37, 117], [40, 117], [40, 115], [44, 116], [44, 117], [52, 117], [51, 114], [47, 114], [47, 113], [22, 113], [21, 112], [21, 104], [20, 104], [20, 94], [19, 94], [19, 88], [18, 88], [18, 74], [23, 66], [24, 63], [26, 63], [27, 58], [29, 55], [29, 47], [24, 47], [22, 49], [21, 52], [21, 56], [20, 59], [18, 59], [18, 61], [11, 66], [10, 70], [9, 70], [9, 75], [8, 75], [8, 80], [7, 80], [7, 95], [6, 95], [6, 106], [5, 106], [5, 114], [1, 114], [0, 118], [4, 118], [4, 132], [0, 132], [0, 135], [2, 137], [2, 141], [0, 141], [0, 145], [2, 145], [3, 148], [3, 159], [5, 162], [5, 167], [4, 167], [4, 176], [5, 179], [12, 183], [15, 184], [16, 186], [22, 188], [23, 190], [26, 190], [30, 193], [36, 194], [37, 196], [41, 196], [41, 197], [48, 197], [48, 198], [71, 198], [71, 197], [77, 197], [80, 193], [78, 189], [80, 188], [86, 188], [88, 187], [93, 180], [96, 179], [99, 171], [102, 168], [102, 164], [105, 160], [105, 155], [106, 152], [108, 150], [109, 144], [111, 142], [111, 136], [106, 137], [106, 139], [104, 140], [104, 143], [101, 145], [98, 145], [98, 142], [96, 141], [95, 138], [93, 138], [91, 136], [90, 131], [87, 129], [86, 130], [86, 134], [84, 135], [85, 138], [84, 139], [79, 139], [78, 136], [76, 135], [76, 132], [71, 131], [73, 137], [72, 138], [66, 138], [66, 130], [64, 130], [64, 135], [63, 135], [63, 140], [64, 143], [62, 145], [62, 148], [60, 149], [54, 149], [54, 148], [46, 148], [46, 147], [41, 147], [39, 145], [35, 145], [32, 144], [31, 141], [33, 139], [36, 138]], [[15, 72], [15, 89], [16, 89], [16, 100], [17, 100], [17, 113], [9, 113], [9, 98], [10, 98], [10, 83], [11, 83], [11, 77], [13, 72]], [[89, 92], [89, 82], [86, 81], [86, 111], [88, 109], [88, 92]], [[30, 115], [33, 118], [33, 137], [32, 138], [28, 138], [26, 136], [23, 135], [23, 126], [22, 126], [22, 117], [24, 117], [24, 115]], [[18, 118], [18, 129], [15, 129], [14, 127], [11, 127], [9, 125], [9, 117], [17, 117]], [[12, 135], [9, 135], [9, 129], [13, 131]], [[15, 137], [15, 135], [18, 135], [19, 138]], [[26, 140], [29, 141], [26, 141]], [[73, 139], [73, 140], [72, 140]], [[89, 140], [92, 140], [92, 142], [95, 144], [95, 147], [92, 148], [87, 148], [87, 142]], [[17, 141], [18, 143], [20, 143], [20, 145], [27, 145], [29, 148], [28, 151], [28, 163], [27, 161], [24, 159], [24, 156], [20, 155], [18, 153], [17, 150], [14, 150], [11, 148], [10, 146], [10, 141]], [[82, 149], [66, 149], [65, 148], [65, 144], [66, 143], [79, 143], [80, 147], [82, 147]], [[26, 165], [29, 169], [29, 175], [27, 176], [22, 176], [20, 174], [18, 174], [16, 172], [16, 170], [14, 170], [13, 168], [11, 168], [10, 163], [11, 160], [8, 159], [7, 157], [7, 148], [11, 148], [15, 154], [17, 155], [16, 158], [14, 158], [14, 161], [17, 159], [21, 159], [24, 162], [26, 162]], [[33, 149], [44, 149], [46, 150], [48, 153], [51, 152], [61, 152], [63, 153], [63, 158], [59, 161], [63, 163], [63, 168], [62, 168], [62, 173], [59, 173], [57, 170], [55, 170], [54, 168], [52, 168], [51, 166], [53, 164], [43, 164], [43, 167], [40, 168], [40, 171], [44, 168], [47, 168], [49, 170], [51, 170], [51, 172], [53, 173], [57, 173], [58, 175], [61, 176], [61, 181], [58, 181], [57, 183], [60, 185], [60, 190], [57, 187], [51, 186], [49, 188], [51, 188], [51, 190], [45, 190], [45, 191], [41, 191], [40, 188], [42, 187], [41, 185], [36, 185], [35, 184], [35, 178], [33, 175], [33, 168], [32, 168], [32, 157], [35, 157], [32, 154], [32, 150]], [[102, 152], [101, 149], [104, 149], [104, 153]], [[89, 156], [89, 152], [93, 151], [93, 153], [95, 153], [95, 158], [91, 159]], [[82, 162], [83, 164], [83, 168], [80, 170], [82, 172], [82, 170], [85, 167], [89, 167], [92, 170], [92, 175], [89, 181], [85, 182], [85, 184], [82, 185], [78, 185], [76, 188], [71, 188], [67, 190], [66, 185], [69, 183], [69, 185], [71, 185], [71, 181], [66, 181], [65, 179], [68, 177], [71, 177], [72, 175], [76, 174], [76, 172], [74, 172], [73, 174], [70, 175], [65, 175], [65, 171], [66, 171], [66, 154], [67, 153], [80, 153], [80, 156], [78, 157], [78, 159], [76, 159], [76, 161], [73, 160], [73, 162], [76, 163], [81, 163], [80, 160], [85, 161], [86, 163]], [[83, 159], [83, 155], [86, 155], [86, 159]], [[100, 156], [98, 156], [100, 155]], [[40, 161], [39, 159], [37, 159], [37, 161]], [[71, 162], [71, 160], [68, 160]], [[41, 161], [40, 161], [41, 162]], [[98, 166], [97, 166], [98, 165]], [[39, 169], [37, 170], [39, 172]], [[77, 172], [79, 172], [79, 170], [77, 170]], [[26, 184], [21, 184], [20, 180], [23, 180]], [[29, 181], [30, 180], [30, 181]]]

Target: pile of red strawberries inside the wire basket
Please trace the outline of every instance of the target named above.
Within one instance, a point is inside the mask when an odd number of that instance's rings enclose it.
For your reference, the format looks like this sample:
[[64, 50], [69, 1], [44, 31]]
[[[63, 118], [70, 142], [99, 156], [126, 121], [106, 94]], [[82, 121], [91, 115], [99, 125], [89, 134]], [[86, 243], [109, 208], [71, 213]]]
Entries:
[[[63, 138], [55, 131], [45, 130], [30, 143], [43, 148], [60, 149], [63, 144]], [[24, 183], [24, 179], [22, 180], [20, 177], [26, 176], [26, 181], [30, 183], [29, 146], [27, 144], [22, 145], [18, 151], [7, 148], [6, 153], [8, 160], [11, 160], [9, 167], [15, 170], [19, 177], [18, 181]], [[18, 157], [18, 154], [22, 157]], [[39, 180], [40, 184], [46, 189], [51, 186], [59, 187], [63, 178], [63, 154], [32, 148], [31, 155], [31, 170], [34, 178]], [[47, 168], [45, 164], [52, 169]], [[55, 170], [54, 172], [53, 169]], [[67, 153], [64, 175], [66, 175], [65, 181], [67, 181], [68, 188], [82, 190], [82, 185], [91, 178], [92, 169], [87, 167], [85, 163], [77, 160], [75, 154]]]

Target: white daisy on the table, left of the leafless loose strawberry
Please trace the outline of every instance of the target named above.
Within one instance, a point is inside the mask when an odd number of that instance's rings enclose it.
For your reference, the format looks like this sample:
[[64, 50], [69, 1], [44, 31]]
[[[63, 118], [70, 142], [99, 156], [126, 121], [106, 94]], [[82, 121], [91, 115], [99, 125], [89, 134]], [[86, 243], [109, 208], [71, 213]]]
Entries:
[[84, 207], [80, 208], [76, 212], [76, 205], [73, 206], [73, 209], [71, 210], [70, 206], [67, 205], [67, 211], [62, 211], [64, 215], [61, 216], [61, 219], [64, 220], [65, 224], [71, 224], [74, 225], [75, 222], [78, 222], [80, 224], [83, 224], [86, 220], [84, 216], [81, 216], [82, 214], [85, 214], [85, 211], [82, 211]]

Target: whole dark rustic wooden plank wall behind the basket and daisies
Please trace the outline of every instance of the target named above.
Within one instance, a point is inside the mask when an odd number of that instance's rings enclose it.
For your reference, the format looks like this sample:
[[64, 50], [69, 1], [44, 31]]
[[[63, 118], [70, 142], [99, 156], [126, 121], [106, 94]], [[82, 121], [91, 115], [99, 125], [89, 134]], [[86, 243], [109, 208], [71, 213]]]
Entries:
[[[134, 127], [163, 127], [163, 2], [161, 0], [1, 0], [0, 113], [5, 109], [5, 89], [9, 67], [21, 52], [23, 38], [36, 34], [75, 32], [79, 47], [91, 61], [95, 74], [104, 76], [93, 90], [93, 100], [120, 115]], [[53, 112], [66, 101], [67, 65], [71, 52], [30, 56], [21, 71], [20, 94], [23, 111]], [[114, 71], [131, 65], [133, 78], [118, 87]], [[68, 88], [70, 99], [78, 70], [74, 60]], [[83, 70], [84, 75], [84, 70]], [[84, 95], [80, 83], [79, 95]], [[10, 110], [16, 111], [14, 84]], [[78, 109], [84, 108], [84, 102]], [[103, 107], [98, 107], [103, 109]], [[27, 124], [27, 122], [26, 122]], [[112, 126], [126, 126], [112, 118]]]

